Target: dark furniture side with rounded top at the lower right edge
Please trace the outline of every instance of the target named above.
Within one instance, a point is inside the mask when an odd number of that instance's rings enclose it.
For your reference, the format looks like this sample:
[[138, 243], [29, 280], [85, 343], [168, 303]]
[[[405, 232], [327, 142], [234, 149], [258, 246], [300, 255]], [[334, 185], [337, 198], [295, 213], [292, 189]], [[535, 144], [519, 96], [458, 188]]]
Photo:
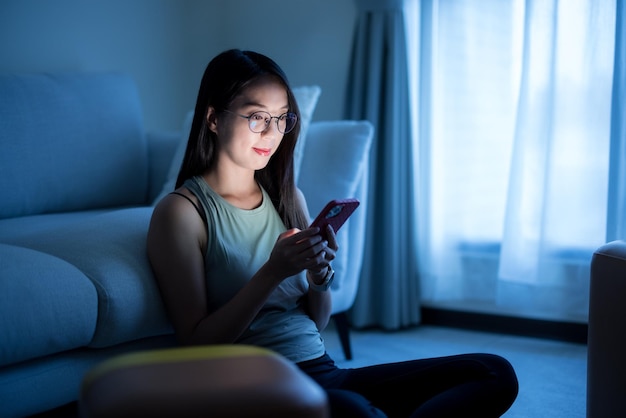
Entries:
[[591, 259], [587, 337], [587, 418], [626, 416], [626, 241]]

